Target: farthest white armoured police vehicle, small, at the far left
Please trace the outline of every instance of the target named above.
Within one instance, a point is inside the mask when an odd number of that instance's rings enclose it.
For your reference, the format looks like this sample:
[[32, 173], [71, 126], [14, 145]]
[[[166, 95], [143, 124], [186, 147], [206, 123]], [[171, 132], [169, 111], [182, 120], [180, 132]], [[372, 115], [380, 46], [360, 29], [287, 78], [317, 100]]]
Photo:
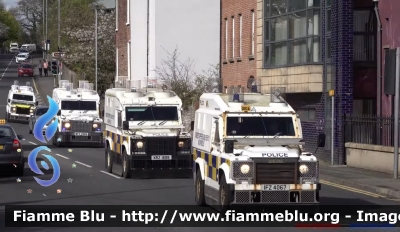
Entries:
[[14, 81], [8, 91], [6, 120], [28, 122], [38, 104], [29, 82], [25, 86], [20, 86], [18, 81]]

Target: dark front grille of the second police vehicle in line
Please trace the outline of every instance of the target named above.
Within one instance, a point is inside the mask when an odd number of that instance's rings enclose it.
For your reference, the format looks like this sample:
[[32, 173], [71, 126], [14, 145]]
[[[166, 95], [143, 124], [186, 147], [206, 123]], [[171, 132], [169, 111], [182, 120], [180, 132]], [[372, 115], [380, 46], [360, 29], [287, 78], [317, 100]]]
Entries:
[[173, 155], [176, 154], [177, 139], [169, 138], [146, 138], [145, 139], [147, 155]]

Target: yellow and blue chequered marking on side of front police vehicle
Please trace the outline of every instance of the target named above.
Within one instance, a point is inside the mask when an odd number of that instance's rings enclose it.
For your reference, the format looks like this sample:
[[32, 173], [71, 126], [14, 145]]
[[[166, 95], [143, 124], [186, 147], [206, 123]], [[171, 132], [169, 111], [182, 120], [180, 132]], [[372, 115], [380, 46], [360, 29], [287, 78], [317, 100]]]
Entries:
[[211, 178], [212, 180], [218, 181], [218, 168], [221, 164], [226, 163], [228, 166], [231, 165], [231, 161], [229, 159], [222, 158], [221, 156], [215, 156], [210, 153], [199, 151], [196, 148], [193, 148], [193, 165], [196, 170], [196, 159], [202, 158], [206, 161], [206, 167], [204, 168], [204, 176]]

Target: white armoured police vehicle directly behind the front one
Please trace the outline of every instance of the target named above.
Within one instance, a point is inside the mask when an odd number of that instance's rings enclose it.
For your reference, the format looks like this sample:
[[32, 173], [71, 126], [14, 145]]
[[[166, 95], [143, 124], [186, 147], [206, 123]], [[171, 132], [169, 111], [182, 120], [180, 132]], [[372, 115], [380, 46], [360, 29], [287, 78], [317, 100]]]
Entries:
[[[144, 89], [130, 81], [124, 85], [106, 91], [107, 170], [125, 178], [192, 177], [191, 137], [182, 131], [182, 100], [161, 83]], [[137, 88], [131, 88], [134, 85]]]

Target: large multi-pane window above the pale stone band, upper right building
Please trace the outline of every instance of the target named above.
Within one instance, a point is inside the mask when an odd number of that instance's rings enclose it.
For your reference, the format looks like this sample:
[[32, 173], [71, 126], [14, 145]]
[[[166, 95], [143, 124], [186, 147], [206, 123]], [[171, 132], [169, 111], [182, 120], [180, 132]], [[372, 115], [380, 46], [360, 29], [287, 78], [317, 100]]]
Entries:
[[264, 3], [264, 66], [320, 62], [319, 0]]

